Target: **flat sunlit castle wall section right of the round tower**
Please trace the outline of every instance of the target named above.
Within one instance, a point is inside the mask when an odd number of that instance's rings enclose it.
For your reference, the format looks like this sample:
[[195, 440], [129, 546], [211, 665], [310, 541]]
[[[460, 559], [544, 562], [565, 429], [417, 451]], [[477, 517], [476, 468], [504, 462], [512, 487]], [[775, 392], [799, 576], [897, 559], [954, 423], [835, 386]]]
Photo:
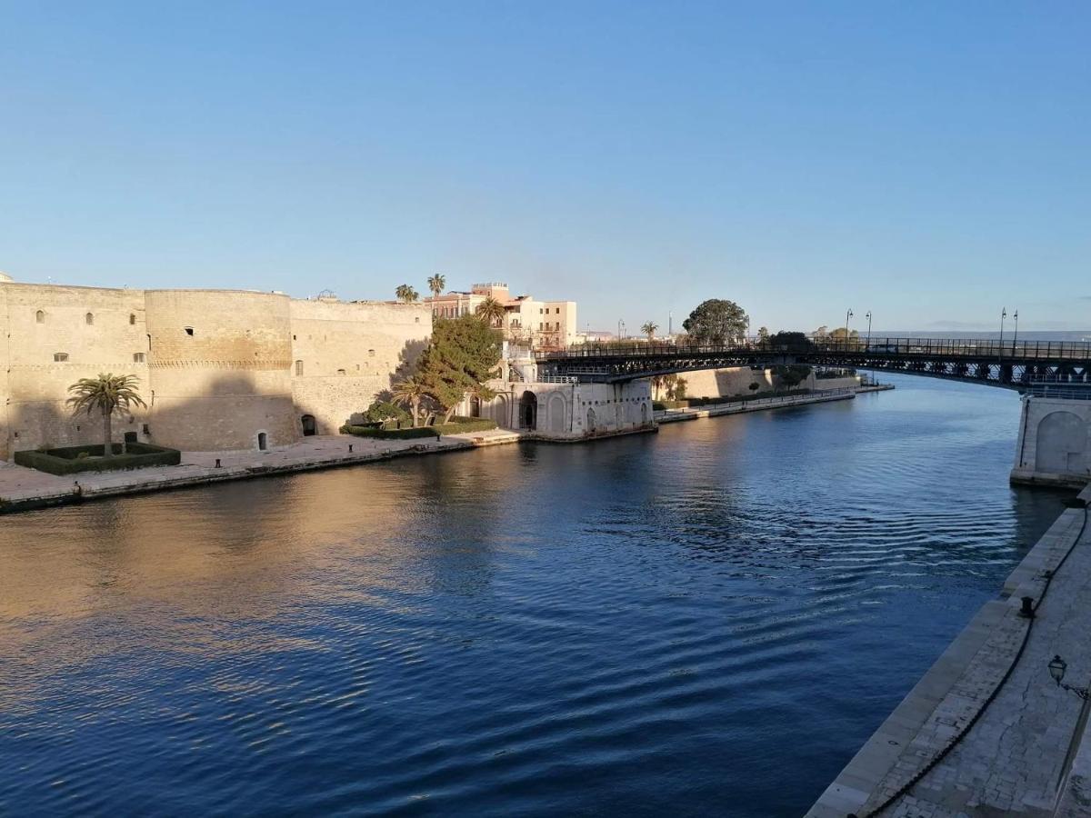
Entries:
[[410, 370], [431, 334], [428, 304], [292, 301], [291, 388], [300, 432], [308, 418], [308, 431], [336, 434]]

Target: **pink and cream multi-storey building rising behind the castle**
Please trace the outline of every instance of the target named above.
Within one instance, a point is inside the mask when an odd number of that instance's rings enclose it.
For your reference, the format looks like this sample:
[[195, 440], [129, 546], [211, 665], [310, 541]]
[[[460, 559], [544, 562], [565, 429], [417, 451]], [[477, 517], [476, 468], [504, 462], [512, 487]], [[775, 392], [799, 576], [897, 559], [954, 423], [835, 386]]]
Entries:
[[512, 296], [502, 281], [476, 284], [469, 292], [451, 291], [427, 299], [436, 317], [472, 314], [488, 298], [504, 306], [504, 337], [533, 348], [567, 347], [576, 342], [576, 302], [539, 301], [532, 296]]

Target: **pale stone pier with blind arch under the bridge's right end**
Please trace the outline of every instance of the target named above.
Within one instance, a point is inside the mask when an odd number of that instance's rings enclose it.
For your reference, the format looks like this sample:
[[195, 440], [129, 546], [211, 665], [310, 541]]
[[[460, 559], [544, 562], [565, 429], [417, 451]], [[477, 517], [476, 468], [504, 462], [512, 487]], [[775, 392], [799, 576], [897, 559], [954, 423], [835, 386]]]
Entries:
[[1074, 486], [1091, 482], [1091, 400], [1047, 394], [1023, 397], [1011, 482]]

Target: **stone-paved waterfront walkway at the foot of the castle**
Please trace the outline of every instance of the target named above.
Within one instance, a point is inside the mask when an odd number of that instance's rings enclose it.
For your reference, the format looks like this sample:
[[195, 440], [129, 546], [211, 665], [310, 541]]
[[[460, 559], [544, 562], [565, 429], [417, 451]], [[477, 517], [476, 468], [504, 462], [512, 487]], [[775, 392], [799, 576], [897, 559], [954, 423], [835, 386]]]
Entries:
[[[95, 497], [241, 480], [265, 474], [349, 466], [407, 455], [515, 443], [518, 432], [493, 430], [412, 441], [376, 441], [349, 435], [308, 437], [268, 452], [183, 452], [178, 466], [57, 477], [0, 460], [0, 512], [64, 505]], [[349, 452], [349, 446], [352, 450]], [[217, 458], [220, 461], [216, 467]]]

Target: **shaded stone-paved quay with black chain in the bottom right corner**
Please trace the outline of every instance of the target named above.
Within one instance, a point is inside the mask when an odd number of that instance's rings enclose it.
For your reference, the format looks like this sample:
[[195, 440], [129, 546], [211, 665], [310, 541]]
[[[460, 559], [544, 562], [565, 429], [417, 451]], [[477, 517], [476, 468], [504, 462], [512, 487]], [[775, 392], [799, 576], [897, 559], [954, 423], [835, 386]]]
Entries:
[[[1091, 501], [1091, 486], [1080, 493]], [[807, 813], [890, 818], [1091, 816], [1091, 526], [1065, 510]], [[1021, 598], [1034, 616], [1020, 615]]]

